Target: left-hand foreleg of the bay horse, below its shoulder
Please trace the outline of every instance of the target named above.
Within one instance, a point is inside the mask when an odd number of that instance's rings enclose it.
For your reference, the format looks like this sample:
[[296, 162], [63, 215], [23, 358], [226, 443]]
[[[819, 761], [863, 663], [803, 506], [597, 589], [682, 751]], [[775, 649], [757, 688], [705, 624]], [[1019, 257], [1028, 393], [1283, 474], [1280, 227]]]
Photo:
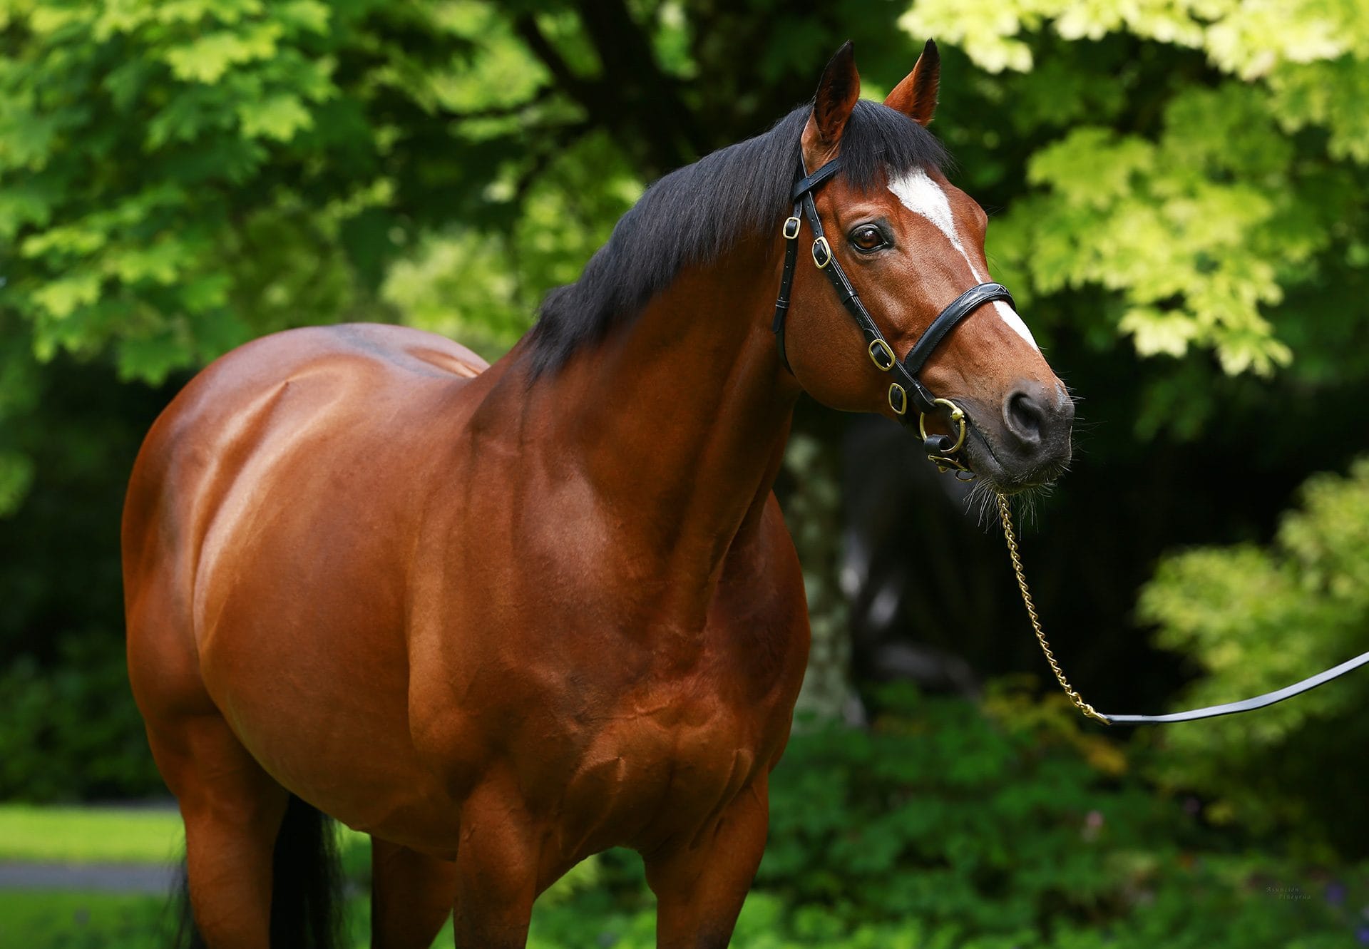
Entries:
[[491, 779], [461, 805], [456, 852], [457, 949], [523, 949], [537, 898], [541, 838], [517, 783]]

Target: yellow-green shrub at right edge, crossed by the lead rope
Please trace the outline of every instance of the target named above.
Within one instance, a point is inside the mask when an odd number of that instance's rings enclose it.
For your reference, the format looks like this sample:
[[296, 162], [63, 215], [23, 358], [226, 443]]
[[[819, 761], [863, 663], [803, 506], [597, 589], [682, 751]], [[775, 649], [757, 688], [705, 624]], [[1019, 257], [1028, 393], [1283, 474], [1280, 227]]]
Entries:
[[[1369, 649], [1369, 459], [1302, 489], [1268, 548], [1199, 548], [1168, 557], [1143, 590], [1157, 642], [1199, 676], [1184, 705], [1290, 685]], [[1358, 756], [1369, 742], [1369, 675], [1322, 686], [1257, 715], [1157, 735], [1155, 772], [1212, 796], [1214, 820], [1296, 828], [1309, 849], [1369, 853]]]

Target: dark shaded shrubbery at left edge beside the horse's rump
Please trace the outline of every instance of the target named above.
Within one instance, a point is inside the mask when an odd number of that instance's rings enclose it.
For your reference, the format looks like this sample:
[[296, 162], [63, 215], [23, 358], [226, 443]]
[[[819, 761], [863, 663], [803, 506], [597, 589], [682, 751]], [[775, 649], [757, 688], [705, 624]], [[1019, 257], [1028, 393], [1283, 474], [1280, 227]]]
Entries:
[[171, 389], [119, 386], [112, 368], [60, 357], [34, 394], [42, 416], [8, 431], [31, 446], [37, 477], [0, 519], [0, 797], [164, 793], [123, 667], [119, 508]]

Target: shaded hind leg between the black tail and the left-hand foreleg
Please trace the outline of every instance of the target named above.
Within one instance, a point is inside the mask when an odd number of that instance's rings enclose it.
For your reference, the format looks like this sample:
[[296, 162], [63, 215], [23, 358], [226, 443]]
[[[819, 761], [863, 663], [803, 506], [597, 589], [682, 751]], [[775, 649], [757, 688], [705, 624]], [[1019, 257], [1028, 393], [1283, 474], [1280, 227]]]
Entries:
[[371, 838], [372, 949], [427, 949], [455, 898], [455, 863]]

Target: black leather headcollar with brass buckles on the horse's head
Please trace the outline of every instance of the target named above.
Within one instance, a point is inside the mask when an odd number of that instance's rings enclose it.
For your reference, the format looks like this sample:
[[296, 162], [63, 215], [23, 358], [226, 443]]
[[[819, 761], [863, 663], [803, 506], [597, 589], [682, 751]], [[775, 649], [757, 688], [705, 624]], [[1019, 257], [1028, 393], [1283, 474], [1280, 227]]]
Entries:
[[[809, 227], [813, 229], [813, 263], [827, 274], [827, 279], [836, 289], [836, 297], [842, 301], [842, 307], [846, 308], [846, 312], [852, 315], [856, 326], [865, 336], [865, 352], [869, 353], [869, 360], [875, 363], [875, 367], [880, 372], [894, 374], [894, 381], [888, 383], [888, 407], [894, 409], [894, 415], [904, 425], [912, 425], [912, 419], [908, 416], [908, 404], [912, 401], [917, 409], [917, 429], [921, 433], [927, 457], [935, 461], [936, 467], [942, 471], [954, 468], [957, 472], [969, 472], [969, 468], [956, 457], [956, 453], [965, 444], [965, 411], [949, 398], [934, 396], [917, 379], [917, 372], [956, 323], [994, 300], [1005, 300], [1008, 305], [1016, 308], [1013, 294], [1002, 283], [979, 283], [969, 288], [941, 311], [936, 319], [932, 320], [932, 325], [927, 327], [927, 331], [908, 351], [904, 360], [899, 362], [894, 355], [894, 348], [888, 345], [888, 340], [879, 331], [879, 326], [876, 326], [869, 311], [865, 309], [865, 304], [860, 301], [860, 296], [852, 286], [850, 279], [847, 279], [846, 271], [842, 270], [841, 263], [836, 260], [832, 245], [828, 244], [827, 237], [823, 234], [823, 220], [817, 215], [817, 204], [813, 203], [813, 192], [841, 171], [841, 167], [842, 160], [836, 157], [813, 174], [808, 174], [802, 157], [798, 162], [799, 178], [794, 182], [794, 188], [790, 192], [790, 200], [794, 201], [794, 214], [784, 220], [782, 230], [784, 236], [784, 275], [780, 278], [779, 296], [775, 299], [775, 322], [771, 325], [771, 329], [775, 331], [775, 344], [779, 346], [779, 359], [784, 364], [784, 368], [793, 374], [794, 370], [790, 367], [789, 356], [784, 353], [784, 316], [789, 314], [789, 296], [794, 285], [794, 262], [798, 259], [798, 231], [802, 227], [799, 215], [804, 215], [804, 218], [808, 218]], [[951, 423], [960, 426], [956, 438], [927, 434], [927, 415], [935, 412], [938, 407], [946, 408], [950, 412]]]

